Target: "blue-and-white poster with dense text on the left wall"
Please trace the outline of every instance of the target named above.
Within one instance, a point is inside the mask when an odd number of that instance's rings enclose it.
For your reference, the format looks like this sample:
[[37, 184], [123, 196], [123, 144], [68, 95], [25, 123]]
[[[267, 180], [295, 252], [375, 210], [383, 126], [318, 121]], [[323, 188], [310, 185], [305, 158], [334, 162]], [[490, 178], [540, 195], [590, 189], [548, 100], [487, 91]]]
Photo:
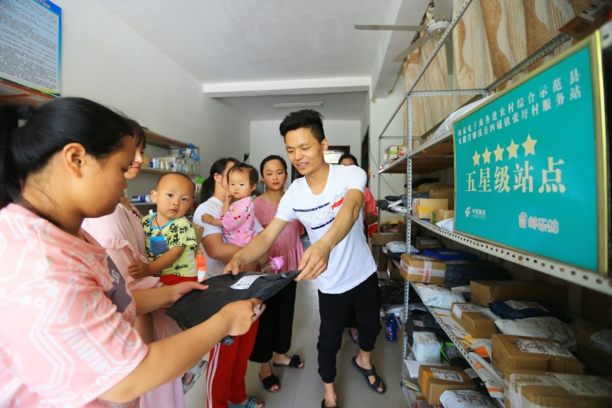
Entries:
[[0, 0], [2, 101], [60, 96], [61, 19], [51, 1]]

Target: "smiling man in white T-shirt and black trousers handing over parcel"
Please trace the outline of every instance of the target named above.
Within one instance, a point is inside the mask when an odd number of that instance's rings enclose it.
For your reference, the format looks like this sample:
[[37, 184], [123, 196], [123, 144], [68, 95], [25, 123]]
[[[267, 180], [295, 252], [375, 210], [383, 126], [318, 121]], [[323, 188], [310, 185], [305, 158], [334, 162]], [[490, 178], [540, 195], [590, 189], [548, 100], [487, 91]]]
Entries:
[[324, 160], [328, 142], [321, 114], [300, 110], [280, 126], [287, 155], [305, 177], [293, 181], [279, 203], [276, 217], [227, 264], [224, 273], [238, 273], [272, 246], [286, 225], [299, 219], [312, 246], [305, 250], [296, 279], [317, 279], [319, 288], [319, 375], [324, 385], [321, 407], [336, 407], [336, 354], [350, 310], [357, 315], [359, 355], [352, 365], [376, 393], [386, 386], [370, 361], [381, 330], [376, 264], [363, 234], [362, 203], [366, 173], [356, 166], [329, 165]]

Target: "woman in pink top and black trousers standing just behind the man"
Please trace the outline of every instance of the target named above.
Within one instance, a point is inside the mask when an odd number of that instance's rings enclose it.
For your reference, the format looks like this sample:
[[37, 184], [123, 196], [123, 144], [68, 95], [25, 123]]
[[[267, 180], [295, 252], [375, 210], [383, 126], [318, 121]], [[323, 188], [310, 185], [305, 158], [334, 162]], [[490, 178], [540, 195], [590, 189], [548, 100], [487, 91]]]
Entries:
[[[287, 163], [278, 155], [269, 155], [262, 160], [260, 172], [266, 184], [266, 192], [255, 198], [255, 218], [265, 228], [276, 215], [276, 210], [285, 193]], [[269, 256], [282, 256], [285, 260], [281, 272], [298, 269], [304, 253], [302, 241], [300, 241], [303, 233], [302, 224], [298, 220], [292, 221], [272, 244]], [[293, 281], [283, 291], [266, 300], [266, 312], [260, 318], [255, 347], [250, 355], [250, 361], [262, 364], [260, 378], [264, 388], [271, 393], [276, 393], [281, 389], [280, 379], [274, 375], [272, 365], [295, 369], [304, 367], [299, 355], [289, 357], [286, 354], [291, 348], [295, 288], [296, 283]], [[271, 361], [272, 364], [270, 364]]]

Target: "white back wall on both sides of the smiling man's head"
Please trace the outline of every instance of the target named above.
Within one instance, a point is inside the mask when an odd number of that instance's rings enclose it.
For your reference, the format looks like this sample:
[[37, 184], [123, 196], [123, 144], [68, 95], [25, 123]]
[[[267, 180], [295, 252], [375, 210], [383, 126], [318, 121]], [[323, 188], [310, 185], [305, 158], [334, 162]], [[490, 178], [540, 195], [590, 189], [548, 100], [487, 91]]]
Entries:
[[[279, 132], [281, 120], [257, 120], [250, 123], [250, 158], [248, 162], [259, 170], [268, 155], [287, 158], [285, 144]], [[350, 146], [357, 159], [362, 154], [362, 124], [359, 120], [324, 120], [323, 129], [330, 146]], [[291, 163], [287, 160], [287, 165]]]

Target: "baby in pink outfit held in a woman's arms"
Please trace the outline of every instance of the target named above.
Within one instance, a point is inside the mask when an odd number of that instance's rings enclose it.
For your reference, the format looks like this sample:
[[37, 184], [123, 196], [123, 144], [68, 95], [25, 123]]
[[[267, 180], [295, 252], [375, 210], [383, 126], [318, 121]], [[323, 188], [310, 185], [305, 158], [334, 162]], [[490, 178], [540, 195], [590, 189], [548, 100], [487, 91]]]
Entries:
[[235, 246], [246, 244], [257, 233], [255, 232], [255, 212], [251, 194], [257, 187], [259, 175], [255, 167], [246, 163], [236, 165], [227, 173], [228, 193], [223, 203], [221, 218], [210, 214], [202, 216], [202, 222], [221, 227], [227, 243]]

